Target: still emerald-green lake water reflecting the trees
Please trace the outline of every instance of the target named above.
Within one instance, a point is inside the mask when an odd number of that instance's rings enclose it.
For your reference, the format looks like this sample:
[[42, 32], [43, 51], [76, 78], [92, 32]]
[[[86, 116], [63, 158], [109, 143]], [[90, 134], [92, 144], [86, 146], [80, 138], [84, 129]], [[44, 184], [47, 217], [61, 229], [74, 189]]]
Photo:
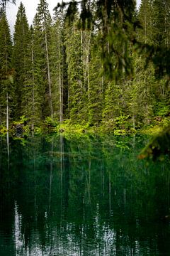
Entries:
[[169, 160], [143, 137], [0, 137], [0, 255], [170, 255]]

